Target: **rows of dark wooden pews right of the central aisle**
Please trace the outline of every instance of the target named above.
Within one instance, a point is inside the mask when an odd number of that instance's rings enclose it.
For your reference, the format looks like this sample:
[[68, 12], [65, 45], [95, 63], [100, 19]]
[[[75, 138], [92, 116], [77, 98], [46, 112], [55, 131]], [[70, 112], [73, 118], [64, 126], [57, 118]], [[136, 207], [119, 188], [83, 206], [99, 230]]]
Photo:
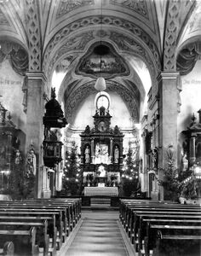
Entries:
[[119, 211], [123, 228], [139, 256], [159, 255], [160, 244], [163, 241], [177, 241], [175, 232], [178, 233], [178, 230], [180, 241], [200, 240], [199, 205], [180, 205], [170, 201], [122, 200]]

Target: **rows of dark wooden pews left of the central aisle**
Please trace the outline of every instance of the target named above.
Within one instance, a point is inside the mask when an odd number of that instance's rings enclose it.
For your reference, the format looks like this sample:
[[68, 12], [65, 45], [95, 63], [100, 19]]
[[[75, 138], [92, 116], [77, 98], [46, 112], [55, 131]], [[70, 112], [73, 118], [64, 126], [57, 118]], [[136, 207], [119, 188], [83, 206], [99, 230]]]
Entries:
[[[56, 255], [80, 217], [80, 199], [0, 201], [0, 232], [14, 232], [10, 238], [5, 236], [8, 239], [5, 242], [12, 242], [15, 247], [20, 231], [28, 233], [34, 228], [36, 248], [40, 248], [45, 256]], [[28, 255], [32, 255], [32, 250], [26, 253]]]

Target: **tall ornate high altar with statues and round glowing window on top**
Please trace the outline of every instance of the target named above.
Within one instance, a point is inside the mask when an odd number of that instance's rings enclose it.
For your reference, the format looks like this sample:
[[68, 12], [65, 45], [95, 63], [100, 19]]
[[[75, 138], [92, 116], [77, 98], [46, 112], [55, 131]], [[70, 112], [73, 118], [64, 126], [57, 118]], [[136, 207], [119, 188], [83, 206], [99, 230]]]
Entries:
[[[103, 104], [103, 102], [105, 104]], [[123, 133], [110, 127], [109, 99], [97, 97], [94, 127], [86, 126], [81, 137], [81, 166], [85, 186], [117, 186], [123, 166]]]

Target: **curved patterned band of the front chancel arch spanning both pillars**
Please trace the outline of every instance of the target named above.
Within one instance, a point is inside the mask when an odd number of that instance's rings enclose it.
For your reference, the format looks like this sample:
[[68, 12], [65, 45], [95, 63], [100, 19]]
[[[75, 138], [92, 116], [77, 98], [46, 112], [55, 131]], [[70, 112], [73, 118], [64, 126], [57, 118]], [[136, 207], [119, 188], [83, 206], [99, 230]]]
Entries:
[[136, 37], [141, 38], [141, 40], [148, 46], [149, 50], [152, 52], [153, 58], [156, 60], [157, 67], [160, 70], [161, 65], [158, 48], [154, 43], [153, 39], [145, 31], [143, 31], [140, 26], [136, 26], [134, 23], [129, 22], [129, 20], [124, 20], [114, 16], [102, 17], [98, 15], [76, 20], [71, 24], [65, 26], [55, 34], [55, 36], [50, 40], [44, 52], [43, 71], [47, 70], [50, 55], [54, 52], [55, 47], [60, 43], [62, 39], [69, 38], [70, 34], [72, 32], [78, 31], [78, 29], [100, 25], [100, 22], [102, 22], [102, 24], [106, 26], [117, 27], [118, 30], [119, 27], [123, 28], [125, 29], [125, 31], [131, 32]]

